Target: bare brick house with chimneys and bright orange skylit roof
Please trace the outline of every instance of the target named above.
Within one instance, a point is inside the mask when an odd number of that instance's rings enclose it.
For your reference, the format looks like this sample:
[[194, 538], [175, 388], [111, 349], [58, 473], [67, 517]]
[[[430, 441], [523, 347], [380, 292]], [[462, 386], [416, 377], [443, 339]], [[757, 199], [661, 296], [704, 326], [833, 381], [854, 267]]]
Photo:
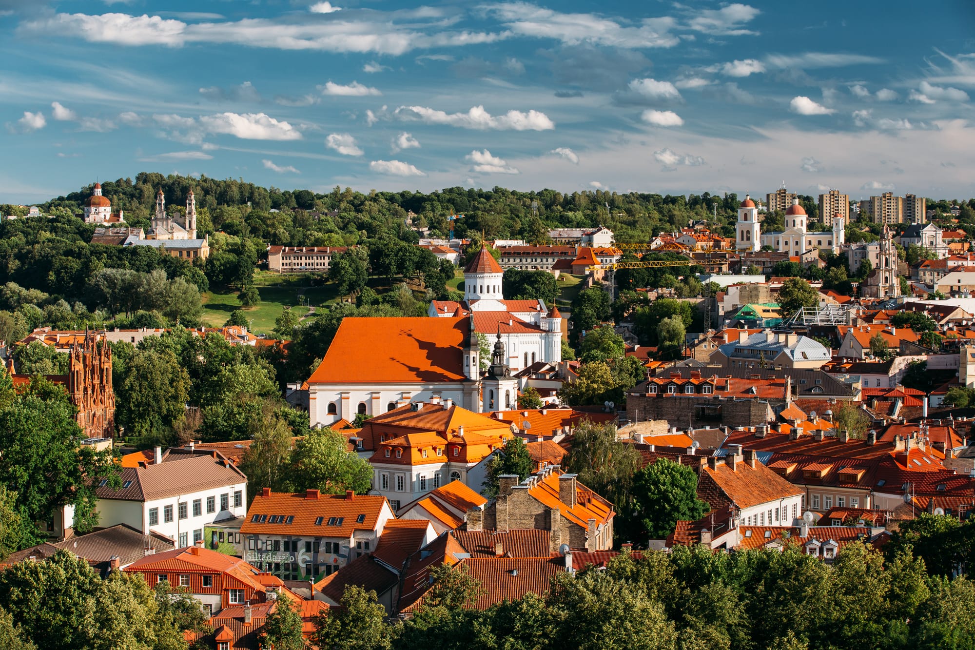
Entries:
[[497, 500], [483, 510], [469, 510], [467, 530], [547, 530], [552, 551], [564, 544], [587, 550], [612, 548], [612, 505], [579, 483], [575, 474], [545, 467], [524, 482], [517, 475], [499, 478]]

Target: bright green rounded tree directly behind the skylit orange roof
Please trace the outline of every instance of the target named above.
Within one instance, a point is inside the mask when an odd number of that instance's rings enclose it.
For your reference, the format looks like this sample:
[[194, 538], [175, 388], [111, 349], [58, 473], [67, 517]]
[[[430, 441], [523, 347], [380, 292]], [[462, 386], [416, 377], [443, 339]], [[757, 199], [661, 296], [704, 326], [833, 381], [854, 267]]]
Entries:
[[297, 441], [292, 454], [292, 483], [298, 491], [315, 488], [322, 494], [353, 490], [366, 494], [372, 487], [369, 462], [347, 451], [348, 440], [330, 427], [313, 428]]

